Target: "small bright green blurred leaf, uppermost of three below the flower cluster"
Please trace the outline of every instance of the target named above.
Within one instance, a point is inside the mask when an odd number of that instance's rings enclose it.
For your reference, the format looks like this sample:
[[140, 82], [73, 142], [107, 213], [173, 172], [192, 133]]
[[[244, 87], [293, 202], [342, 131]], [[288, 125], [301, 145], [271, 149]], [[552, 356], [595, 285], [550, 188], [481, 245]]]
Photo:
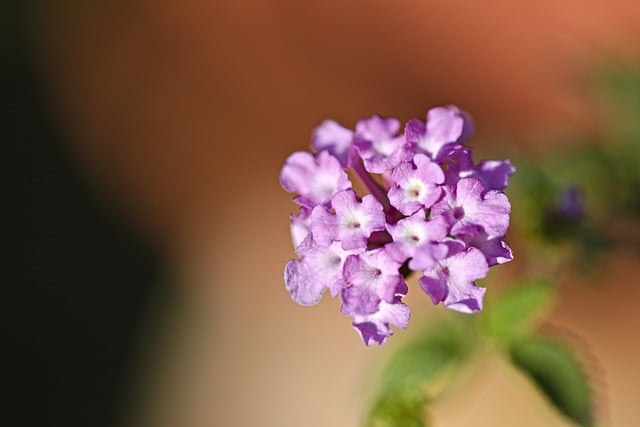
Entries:
[[553, 287], [546, 280], [512, 286], [496, 301], [488, 303], [480, 320], [485, 333], [501, 342], [526, 336], [550, 306]]

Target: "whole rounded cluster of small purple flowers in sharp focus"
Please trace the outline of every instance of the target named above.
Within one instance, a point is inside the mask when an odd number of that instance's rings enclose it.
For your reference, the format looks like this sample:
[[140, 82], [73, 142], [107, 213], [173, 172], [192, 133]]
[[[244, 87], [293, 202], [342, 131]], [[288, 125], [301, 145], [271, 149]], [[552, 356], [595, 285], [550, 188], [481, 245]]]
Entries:
[[[300, 206], [291, 216], [298, 258], [285, 267], [287, 290], [303, 305], [327, 290], [340, 295], [367, 345], [384, 343], [390, 325], [407, 326], [410, 271], [434, 304], [472, 313], [485, 293], [475, 281], [512, 259], [503, 240], [509, 160], [474, 163], [464, 145], [470, 120], [453, 106], [400, 130], [393, 118], [361, 120], [355, 131], [327, 120], [313, 133], [314, 153], [291, 154], [280, 173]], [[370, 194], [359, 197], [350, 177]]]

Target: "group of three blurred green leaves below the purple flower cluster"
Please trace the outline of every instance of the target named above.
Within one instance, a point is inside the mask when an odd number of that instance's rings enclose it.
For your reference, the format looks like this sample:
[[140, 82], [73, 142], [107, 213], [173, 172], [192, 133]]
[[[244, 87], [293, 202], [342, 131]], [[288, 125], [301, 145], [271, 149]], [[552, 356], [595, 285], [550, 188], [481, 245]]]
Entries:
[[430, 425], [424, 418], [428, 405], [443, 395], [472, 355], [495, 347], [561, 414], [580, 426], [592, 426], [591, 391], [578, 358], [571, 349], [536, 334], [552, 299], [548, 281], [527, 281], [504, 292], [479, 315], [432, 325], [389, 360], [366, 425]]

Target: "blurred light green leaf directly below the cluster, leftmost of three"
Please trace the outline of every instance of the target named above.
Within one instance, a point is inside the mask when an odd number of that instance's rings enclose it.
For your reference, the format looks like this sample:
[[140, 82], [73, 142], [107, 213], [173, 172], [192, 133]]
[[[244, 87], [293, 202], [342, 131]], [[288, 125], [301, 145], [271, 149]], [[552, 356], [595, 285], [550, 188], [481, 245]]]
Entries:
[[371, 427], [423, 427], [424, 406], [452, 379], [474, 342], [468, 323], [434, 325], [389, 360], [367, 417]]

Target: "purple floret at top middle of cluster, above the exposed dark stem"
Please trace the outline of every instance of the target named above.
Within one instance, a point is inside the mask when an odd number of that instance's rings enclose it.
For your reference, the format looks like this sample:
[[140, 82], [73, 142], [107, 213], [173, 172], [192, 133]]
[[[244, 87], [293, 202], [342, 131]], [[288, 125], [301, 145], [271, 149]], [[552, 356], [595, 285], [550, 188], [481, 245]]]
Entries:
[[373, 116], [356, 125], [353, 145], [371, 173], [384, 173], [409, 158], [405, 149], [404, 135], [396, 136], [400, 130], [397, 119]]

